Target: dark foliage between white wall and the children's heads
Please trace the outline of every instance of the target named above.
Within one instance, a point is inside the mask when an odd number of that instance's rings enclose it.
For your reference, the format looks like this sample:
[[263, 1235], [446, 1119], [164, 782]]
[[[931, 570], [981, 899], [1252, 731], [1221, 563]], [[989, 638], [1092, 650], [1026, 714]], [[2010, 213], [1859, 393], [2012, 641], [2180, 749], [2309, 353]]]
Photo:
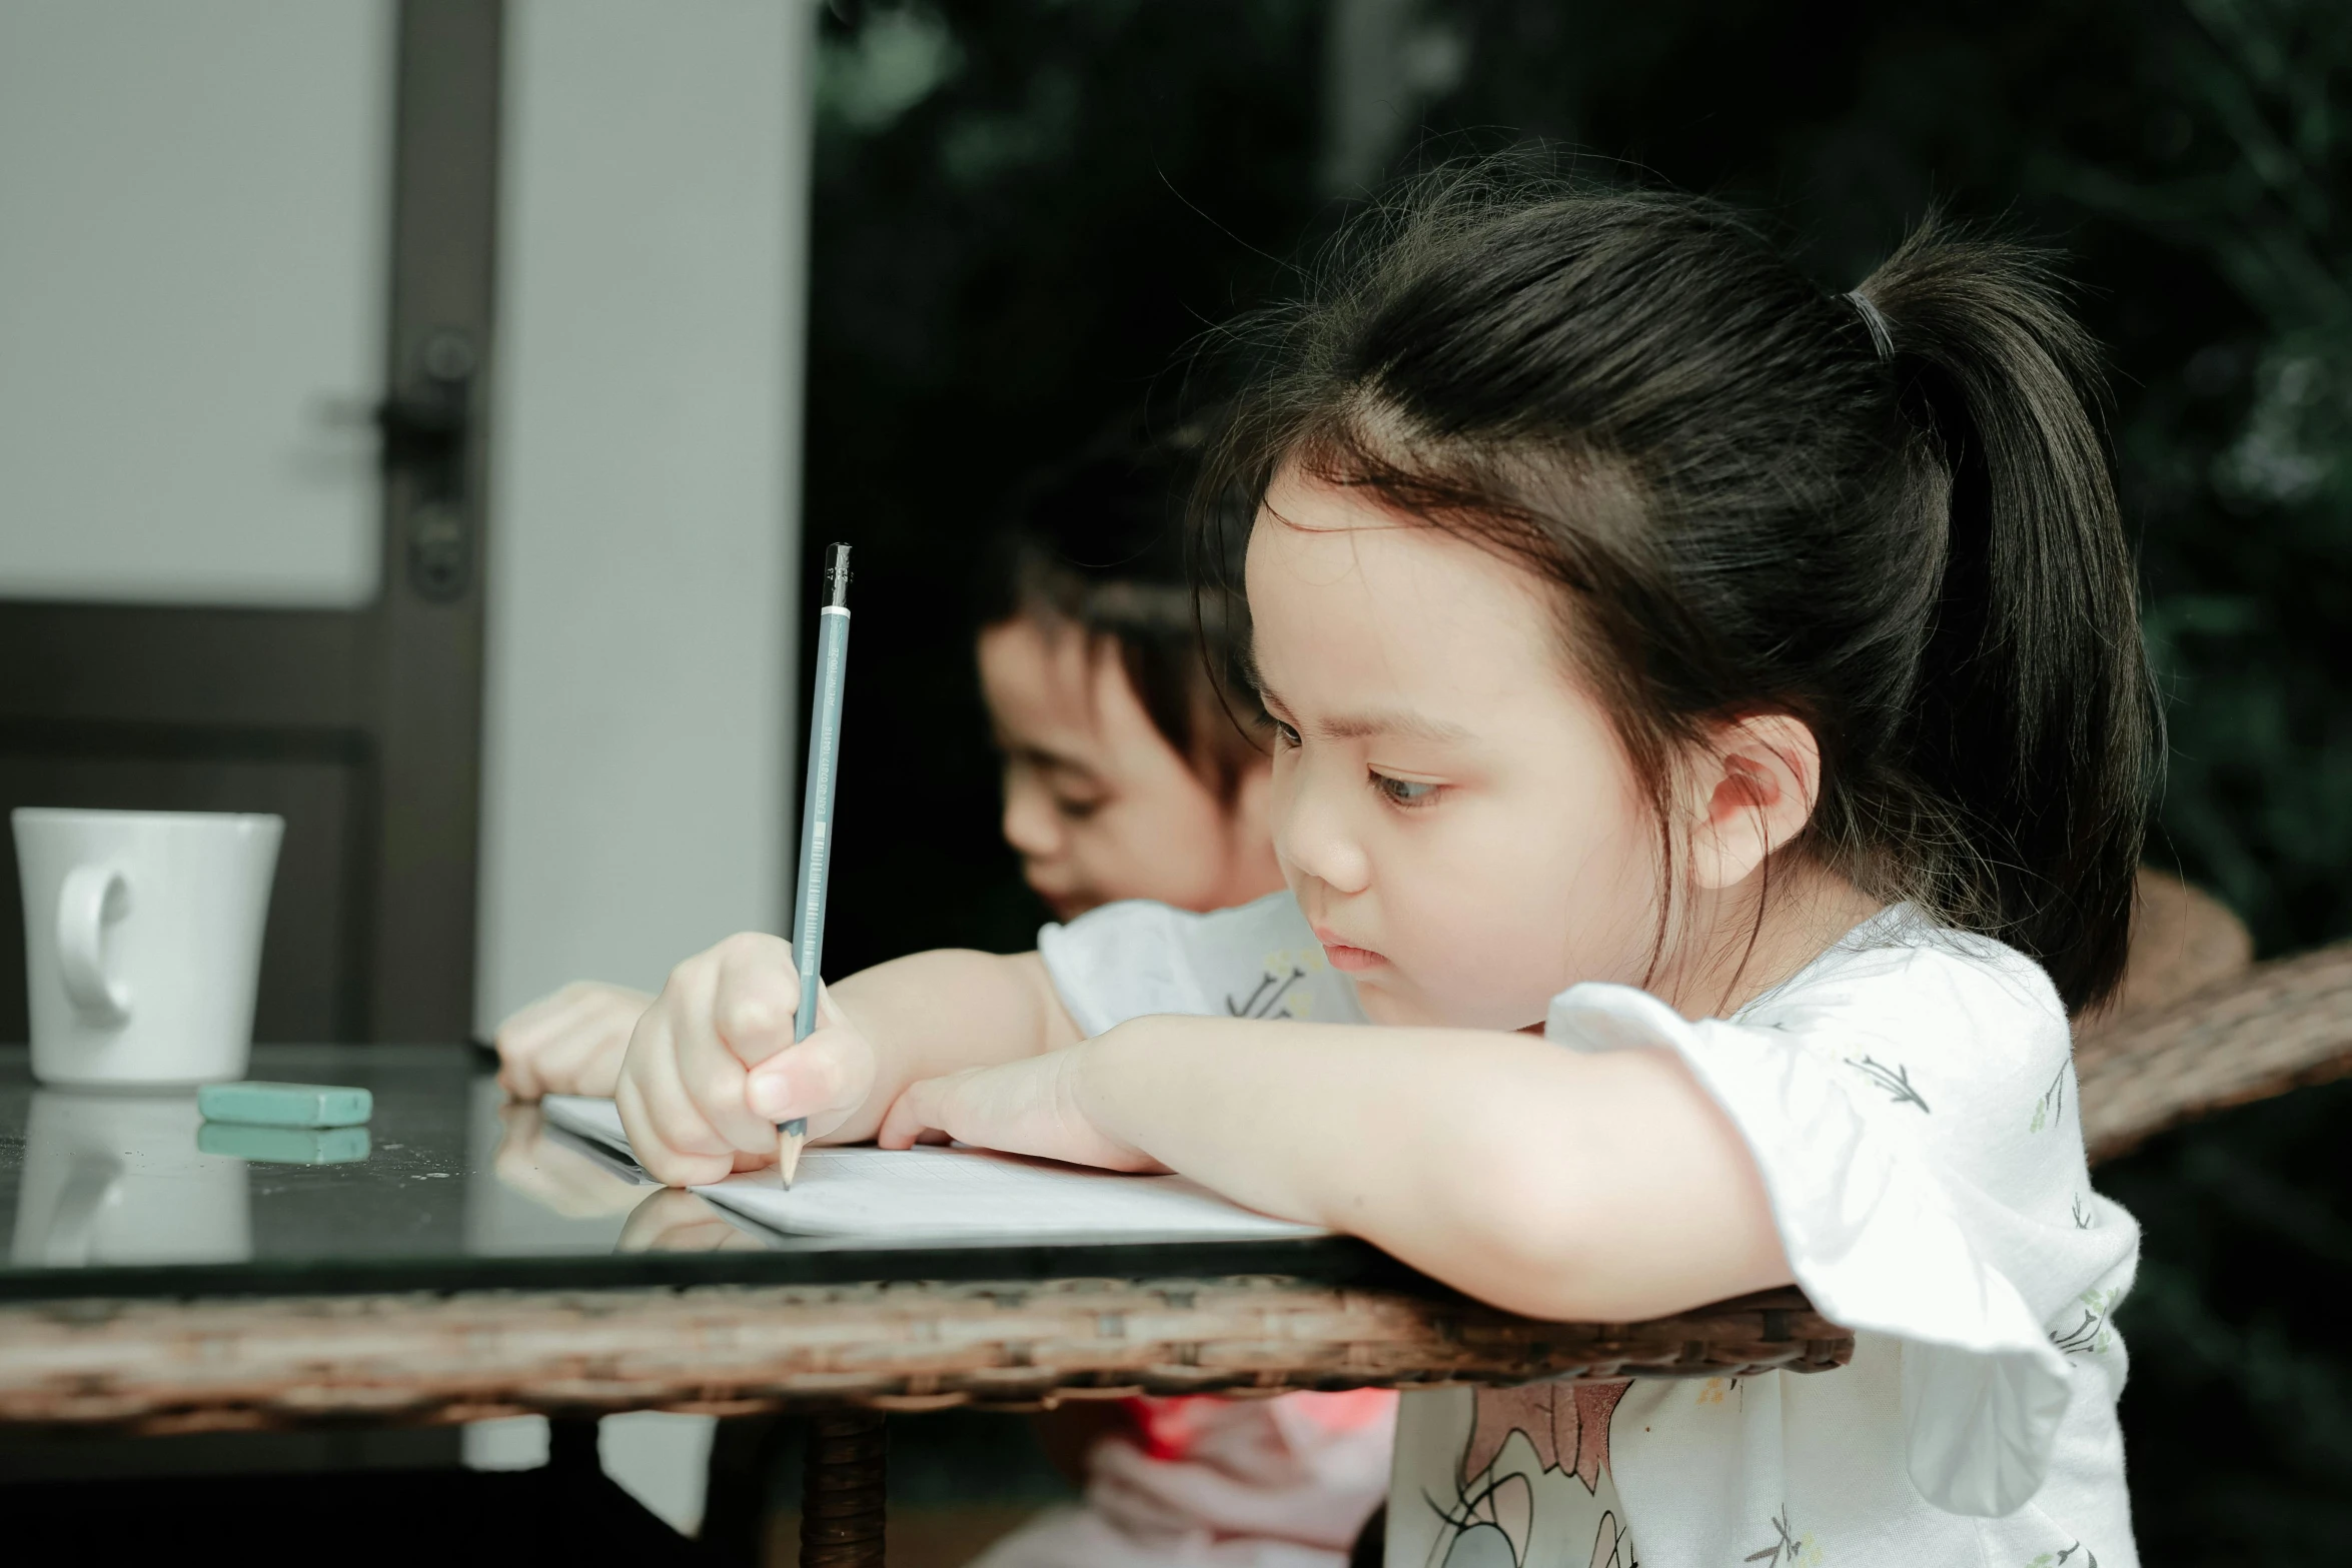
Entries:
[[1312, 212], [1317, 38], [1308, 0], [828, 26], [807, 541], [854, 541], [861, 576], [835, 973], [1035, 938], [971, 675], [981, 545], [1028, 470], [1171, 397], [1176, 350], [1277, 287], [1258, 252]]

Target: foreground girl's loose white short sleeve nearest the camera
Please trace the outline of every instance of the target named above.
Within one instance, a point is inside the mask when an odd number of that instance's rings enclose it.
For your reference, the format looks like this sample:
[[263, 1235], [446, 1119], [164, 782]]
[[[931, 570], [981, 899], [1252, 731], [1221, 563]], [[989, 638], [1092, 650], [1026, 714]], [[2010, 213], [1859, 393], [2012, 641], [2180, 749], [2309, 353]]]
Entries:
[[1581, 1048], [1663, 1046], [1691, 1067], [1748, 1143], [1804, 1293], [1903, 1342], [1912, 1483], [1976, 1516], [2042, 1488], [2072, 1399], [2051, 1324], [2119, 1293], [2138, 1255], [2119, 1208], [2084, 1208], [2079, 1124], [2044, 1093], [2051, 1074], [2070, 1081], [2065, 1013], [2039, 971], [2009, 959], [1830, 964], [1740, 1023], [1578, 985], [1545, 1027]]

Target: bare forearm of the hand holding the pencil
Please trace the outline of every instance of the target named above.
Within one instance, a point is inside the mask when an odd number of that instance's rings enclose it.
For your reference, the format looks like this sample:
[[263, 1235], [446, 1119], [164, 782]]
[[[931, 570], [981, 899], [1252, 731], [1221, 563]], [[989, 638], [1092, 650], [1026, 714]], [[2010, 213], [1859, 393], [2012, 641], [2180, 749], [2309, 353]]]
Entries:
[[882, 1114], [917, 1079], [990, 1067], [1080, 1041], [1035, 952], [960, 947], [913, 952], [830, 985], [833, 1006], [875, 1048], [875, 1088], [830, 1138], [875, 1135]]

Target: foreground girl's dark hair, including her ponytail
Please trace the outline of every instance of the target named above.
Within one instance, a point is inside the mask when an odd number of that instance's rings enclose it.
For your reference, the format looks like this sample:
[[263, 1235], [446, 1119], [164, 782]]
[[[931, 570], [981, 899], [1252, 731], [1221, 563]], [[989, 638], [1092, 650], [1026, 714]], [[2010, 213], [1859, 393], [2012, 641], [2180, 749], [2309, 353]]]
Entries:
[[1790, 712], [1823, 757], [1795, 849], [2070, 1011], [2112, 990], [2157, 708], [2098, 355], [2039, 254], [1929, 221], [1839, 296], [1717, 202], [1477, 165], [1244, 341], [1204, 494], [1289, 463], [1522, 559], [1661, 823], [1710, 719]]

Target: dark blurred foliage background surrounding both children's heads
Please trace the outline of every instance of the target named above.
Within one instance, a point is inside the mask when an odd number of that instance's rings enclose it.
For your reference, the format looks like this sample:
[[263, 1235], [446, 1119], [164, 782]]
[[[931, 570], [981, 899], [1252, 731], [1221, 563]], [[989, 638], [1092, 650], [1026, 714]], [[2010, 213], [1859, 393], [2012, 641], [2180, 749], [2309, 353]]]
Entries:
[[[1021, 473], [1171, 395], [1183, 346], [1329, 228], [1322, 9], [957, 0], [828, 33], [809, 541], [863, 559], [837, 971], [1030, 940], [964, 585]], [[2352, 933], [2352, 7], [1430, 0], [1423, 21], [1463, 71], [1421, 155], [1550, 136], [1759, 207], [1830, 289], [1931, 202], [2060, 244], [2117, 367], [2169, 696], [2152, 858], [2265, 952]], [[2345, 1112], [2305, 1093], [2105, 1178], [2147, 1225], [2122, 1326], [2150, 1563], [2352, 1540]]]

